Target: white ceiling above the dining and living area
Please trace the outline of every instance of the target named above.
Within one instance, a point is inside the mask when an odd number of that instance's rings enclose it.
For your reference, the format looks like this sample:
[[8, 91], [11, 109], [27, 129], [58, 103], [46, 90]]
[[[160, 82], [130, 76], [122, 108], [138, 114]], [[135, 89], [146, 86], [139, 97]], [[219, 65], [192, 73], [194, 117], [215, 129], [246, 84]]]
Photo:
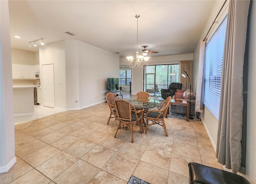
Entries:
[[[32, 40], [45, 44], [63, 39], [119, 52], [124, 58], [143, 45], [159, 52], [150, 56], [193, 53], [215, 1], [211, 0], [9, 0], [12, 48], [29, 48]], [[65, 32], [72, 32], [70, 36]], [[14, 36], [21, 38], [14, 38]]]

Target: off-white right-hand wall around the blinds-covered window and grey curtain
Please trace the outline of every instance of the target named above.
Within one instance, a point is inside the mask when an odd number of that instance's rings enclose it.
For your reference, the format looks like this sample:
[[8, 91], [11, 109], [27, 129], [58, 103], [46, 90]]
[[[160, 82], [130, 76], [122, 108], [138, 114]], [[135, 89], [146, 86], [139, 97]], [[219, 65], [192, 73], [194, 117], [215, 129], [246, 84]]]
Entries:
[[[216, 1], [208, 22], [201, 34], [201, 39], [204, 38], [208, 29], [210, 28], [213, 20], [218, 14], [224, 0]], [[256, 2], [251, 1], [250, 5], [251, 17], [248, 26], [250, 27], [249, 34], [249, 56], [248, 56], [248, 99], [247, 99], [247, 132], [246, 132], [246, 175], [251, 184], [256, 183]], [[212, 33], [211, 33], [212, 34]], [[194, 72], [193, 80], [196, 81], [198, 73], [198, 58], [199, 58], [199, 44], [198, 40], [197, 47], [194, 51]], [[196, 82], [193, 84], [193, 88], [196, 89]], [[202, 115], [202, 121], [204, 126], [208, 131], [208, 136], [210, 137], [214, 149], [216, 150], [217, 142], [217, 131], [218, 131], [218, 120], [213, 116], [213, 114], [205, 107]]]

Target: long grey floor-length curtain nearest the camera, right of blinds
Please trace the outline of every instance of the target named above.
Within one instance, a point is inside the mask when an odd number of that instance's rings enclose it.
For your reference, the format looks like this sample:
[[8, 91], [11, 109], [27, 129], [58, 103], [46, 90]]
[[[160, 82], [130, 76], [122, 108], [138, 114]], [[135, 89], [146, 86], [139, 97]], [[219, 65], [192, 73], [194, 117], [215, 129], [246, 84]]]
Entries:
[[237, 173], [242, 149], [243, 65], [250, 1], [230, 0], [224, 45], [216, 158]]

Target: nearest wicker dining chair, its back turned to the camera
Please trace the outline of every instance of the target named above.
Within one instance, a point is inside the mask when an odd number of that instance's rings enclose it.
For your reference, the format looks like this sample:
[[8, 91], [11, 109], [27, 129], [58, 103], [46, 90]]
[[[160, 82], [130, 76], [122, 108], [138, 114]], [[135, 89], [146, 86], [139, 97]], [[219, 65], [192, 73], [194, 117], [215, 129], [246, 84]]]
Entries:
[[[143, 133], [142, 119], [143, 110], [136, 110], [134, 105], [126, 100], [114, 101], [114, 108], [118, 115], [119, 124], [116, 129], [116, 134], [120, 128], [128, 128], [131, 132], [131, 139], [133, 143], [133, 128], [136, 124], [140, 127], [140, 133]], [[114, 137], [116, 137], [116, 134]]]

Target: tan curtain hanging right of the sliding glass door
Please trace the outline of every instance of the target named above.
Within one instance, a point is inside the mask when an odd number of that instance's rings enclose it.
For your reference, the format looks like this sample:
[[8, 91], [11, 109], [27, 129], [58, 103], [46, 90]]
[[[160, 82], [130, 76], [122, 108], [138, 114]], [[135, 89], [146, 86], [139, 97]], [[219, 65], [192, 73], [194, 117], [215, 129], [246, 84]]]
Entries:
[[[190, 88], [190, 83], [189, 83], [188, 77], [185, 78], [182, 76], [182, 74], [184, 74], [184, 71], [186, 71], [188, 73], [188, 76], [191, 81], [191, 87], [192, 87], [192, 62], [193, 62], [193, 60], [180, 61], [180, 83], [182, 84], [184, 90]], [[191, 89], [191, 91], [192, 91], [192, 89]]]

